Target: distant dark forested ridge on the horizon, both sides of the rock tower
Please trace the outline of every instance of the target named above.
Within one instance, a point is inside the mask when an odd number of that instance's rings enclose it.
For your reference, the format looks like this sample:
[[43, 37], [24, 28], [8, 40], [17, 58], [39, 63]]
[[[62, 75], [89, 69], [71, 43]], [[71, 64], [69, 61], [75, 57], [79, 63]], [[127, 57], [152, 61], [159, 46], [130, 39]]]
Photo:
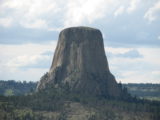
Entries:
[[[25, 95], [33, 92], [37, 86], [37, 82], [0, 80], [0, 95]], [[160, 84], [151, 83], [128, 83], [122, 84], [128, 92], [134, 97], [146, 98], [150, 100], [160, 100]]]

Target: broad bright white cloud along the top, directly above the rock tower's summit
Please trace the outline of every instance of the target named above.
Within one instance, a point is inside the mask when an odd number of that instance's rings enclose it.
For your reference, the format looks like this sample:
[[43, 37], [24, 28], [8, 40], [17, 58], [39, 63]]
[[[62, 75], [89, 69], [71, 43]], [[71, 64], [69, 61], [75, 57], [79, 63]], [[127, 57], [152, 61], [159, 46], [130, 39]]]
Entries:
[[[57, 30], [66, 26], [91, 24], [114, 14], [124, 2], [118, 0], [5, 0], [0, 16], [10, 16], [14, 25]], [[122, 8], [121, 10], [122, 11]], [[120, 14], [120, 12], [118, 13]], [[58, 26], [60, 24], [61, 26]]]

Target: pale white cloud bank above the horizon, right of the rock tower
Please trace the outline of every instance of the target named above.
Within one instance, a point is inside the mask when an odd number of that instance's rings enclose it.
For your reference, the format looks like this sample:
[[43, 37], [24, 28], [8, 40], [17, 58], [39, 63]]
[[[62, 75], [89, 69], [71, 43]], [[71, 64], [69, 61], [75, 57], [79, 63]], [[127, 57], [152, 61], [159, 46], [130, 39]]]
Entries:
[[[126, 53], [136, 49], [143, 57], [135, 59], [119, 57], [116, 54]], [[112, 57], [108, 57], [111, 72], [117, 81], [125, 83], [160, 83], [160, 48], [111, 48], [106, 47], [106, 54], [111, 52]]]

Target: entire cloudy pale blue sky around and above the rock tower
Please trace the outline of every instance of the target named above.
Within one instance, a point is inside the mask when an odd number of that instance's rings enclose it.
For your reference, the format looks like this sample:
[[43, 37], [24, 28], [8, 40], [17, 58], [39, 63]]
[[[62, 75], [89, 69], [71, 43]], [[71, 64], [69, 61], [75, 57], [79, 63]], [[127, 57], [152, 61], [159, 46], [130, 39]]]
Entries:
[[0, 79], [38, 81], [71, 26], [101, 30], [118, 82], [160, 83], [160, 0], [0, 0]]

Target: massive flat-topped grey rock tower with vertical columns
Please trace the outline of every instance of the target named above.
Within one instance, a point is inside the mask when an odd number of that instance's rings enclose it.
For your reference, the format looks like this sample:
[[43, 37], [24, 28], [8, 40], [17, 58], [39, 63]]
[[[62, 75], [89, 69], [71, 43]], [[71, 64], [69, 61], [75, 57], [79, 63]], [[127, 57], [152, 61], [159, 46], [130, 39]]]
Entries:
[[84, 94], [120, 96], [121, 89], [110, 73], [100, 30], [72, 27], [60, 32], [51, 68], [37, 90], [47, 85], [69, 85]]

